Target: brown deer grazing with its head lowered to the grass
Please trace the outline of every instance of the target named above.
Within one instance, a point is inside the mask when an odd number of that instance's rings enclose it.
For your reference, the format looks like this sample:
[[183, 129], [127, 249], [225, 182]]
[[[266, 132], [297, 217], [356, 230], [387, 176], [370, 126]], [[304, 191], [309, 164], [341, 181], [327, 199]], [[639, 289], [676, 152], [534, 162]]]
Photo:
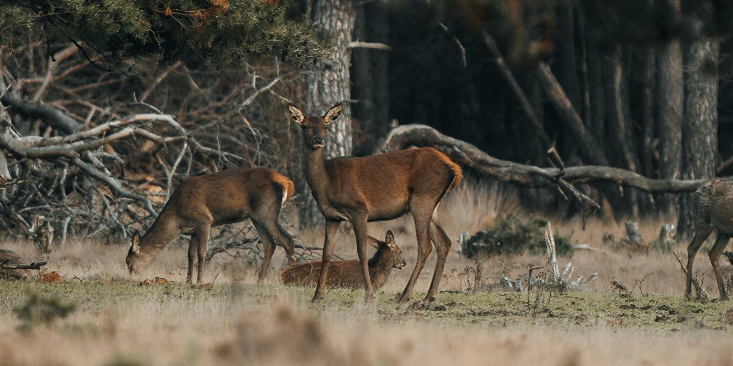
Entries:
[[198, 252], [196, 280], [200, 283], [210, 229], [251, 219], [265, 250], [258, 277], [262, 281], [275, 252], [275, 242], [285, 248], [288, 262], [295, 263], [292, 238], [278, 223], [281, 207], [294, 192], [290, 179], [266, 168], [229, 169], [184, 179], [150, 229], [142, 237], [139, 233], [133, 235], [128, 269], [133, 273], [147, 268], [169, 242], [186, 234], [191, 235], [186, 282], [191, 283], [194, 256]]

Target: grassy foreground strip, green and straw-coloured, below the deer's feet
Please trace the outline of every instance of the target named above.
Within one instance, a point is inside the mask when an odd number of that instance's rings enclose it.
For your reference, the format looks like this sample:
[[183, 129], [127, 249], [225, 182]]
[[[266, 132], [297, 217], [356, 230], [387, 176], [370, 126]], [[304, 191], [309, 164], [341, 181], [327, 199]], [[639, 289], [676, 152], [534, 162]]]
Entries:
[[[28, 329], [11, 309], [33, 292], [75, 312]], [[318, 305], [311, 296], [310, 288], [243, 283], [0, 283], [0, 365], [733, 362], [727, 302], [479, 292], [443, 293], [444, 310], [413, 310], [390, 291], [373, 305], [361, 291], [335, 289]]]

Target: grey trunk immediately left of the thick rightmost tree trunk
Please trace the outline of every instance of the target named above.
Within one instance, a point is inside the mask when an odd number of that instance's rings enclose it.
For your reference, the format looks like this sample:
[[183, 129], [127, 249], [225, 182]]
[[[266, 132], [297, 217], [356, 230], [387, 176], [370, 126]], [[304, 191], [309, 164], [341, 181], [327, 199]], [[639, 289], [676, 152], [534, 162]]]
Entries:
[[[665, 0], [669, 18], [679, 19], [679, 0]], [[659, 177], [679, 179], [682, 160], [682, 101], [685, 80], [682, 74], [682, 48], [679, 40], [671, 40], [659, 51], [657, 58]], [[679, 209], [677, 195], [663, 193], [658, 200], [662, 212]]]

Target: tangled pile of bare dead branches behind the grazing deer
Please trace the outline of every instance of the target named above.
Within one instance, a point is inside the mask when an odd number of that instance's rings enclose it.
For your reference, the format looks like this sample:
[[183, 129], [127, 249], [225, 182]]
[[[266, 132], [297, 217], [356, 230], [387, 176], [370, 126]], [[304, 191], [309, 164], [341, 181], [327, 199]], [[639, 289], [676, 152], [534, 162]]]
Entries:
[[[9, 233], [30, 237], [43, 216], [56, 245], [117, 241], [147, 228], [188, 176], [297, 169], [290, 129], [267, 116], [296, 99], [302, 75], [277, 59], [243, 70], [176, 63], [133, 81], [93, 67], [72, 44], [55, 57], [40, 44], [0, 53], [0, 227]], [[222, 229], [212, 246], [253, 235], [247, 225]]]

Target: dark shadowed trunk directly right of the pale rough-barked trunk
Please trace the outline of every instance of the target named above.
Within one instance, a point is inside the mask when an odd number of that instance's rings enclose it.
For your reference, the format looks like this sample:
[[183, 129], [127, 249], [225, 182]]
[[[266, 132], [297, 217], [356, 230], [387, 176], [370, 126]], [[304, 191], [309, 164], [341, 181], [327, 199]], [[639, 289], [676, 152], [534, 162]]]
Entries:
[[[389, 43], [389, 23], [386, 10], [377, 3], [359, 6], [354, 39], [364, 42]], [[356, 48], [353, 59], [353, 119], [361, 136], [354, 136], [355, 155], [369, 155], [377, 142], [389, 130], [389, 51]]]

